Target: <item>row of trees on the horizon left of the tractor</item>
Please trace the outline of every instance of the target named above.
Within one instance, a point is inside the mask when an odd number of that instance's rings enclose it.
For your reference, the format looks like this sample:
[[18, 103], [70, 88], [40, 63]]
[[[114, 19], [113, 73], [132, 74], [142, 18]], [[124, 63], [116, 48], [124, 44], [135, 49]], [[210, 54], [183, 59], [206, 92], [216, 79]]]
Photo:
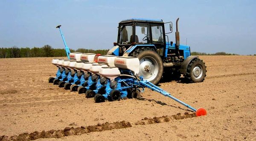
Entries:
[[[108, 49], [93, 50], [93, 49], [70, 49], [70, 52], [83, 52], [83, 53], [99, 53], [106, 55]], [[49, 45], [41, 48], [18, 48], [13, 46], [11, 48], [0, 48], [0, 58], [31, 58], [31, 57], [65, 57], [65, 49], [53, 49]]]

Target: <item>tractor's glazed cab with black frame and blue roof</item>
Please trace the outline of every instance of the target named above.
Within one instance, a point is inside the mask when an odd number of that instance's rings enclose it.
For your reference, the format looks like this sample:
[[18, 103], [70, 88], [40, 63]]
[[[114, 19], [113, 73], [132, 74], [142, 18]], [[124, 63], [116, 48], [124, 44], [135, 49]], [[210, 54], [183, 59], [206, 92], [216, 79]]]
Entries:
[[120, 47], [119, 56], [124, 55], [126, 50], [134, 45], [151, 46], [152, 48], [154, 46], [155, 49], [163, 51], [166, 46], [164, 22], [163, 20], [139, 18], [122, 20], [119, 23], [116, 44]]

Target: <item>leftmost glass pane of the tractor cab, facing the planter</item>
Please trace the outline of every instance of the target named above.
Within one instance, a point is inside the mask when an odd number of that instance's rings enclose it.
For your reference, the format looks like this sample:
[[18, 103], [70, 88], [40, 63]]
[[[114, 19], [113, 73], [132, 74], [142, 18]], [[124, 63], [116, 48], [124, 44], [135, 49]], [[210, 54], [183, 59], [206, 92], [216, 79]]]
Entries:
[[121, 26], [119, 37], [120, 37], [119, 44], [131, 44], [132, 26], [131, 25]]

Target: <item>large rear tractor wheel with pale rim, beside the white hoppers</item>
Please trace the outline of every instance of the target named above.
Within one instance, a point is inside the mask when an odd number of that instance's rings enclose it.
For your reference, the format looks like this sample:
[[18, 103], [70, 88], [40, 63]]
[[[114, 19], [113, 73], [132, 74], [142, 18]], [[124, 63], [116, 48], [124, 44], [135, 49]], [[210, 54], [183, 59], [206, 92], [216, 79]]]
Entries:
[[163, 75], [163, 62], [160, 56], [148, 48], [137, 49], [135, 52], [137, 52], [136, 57], [140, 60], [139, 75], [143, 75], [144, 80], [157, 84]]

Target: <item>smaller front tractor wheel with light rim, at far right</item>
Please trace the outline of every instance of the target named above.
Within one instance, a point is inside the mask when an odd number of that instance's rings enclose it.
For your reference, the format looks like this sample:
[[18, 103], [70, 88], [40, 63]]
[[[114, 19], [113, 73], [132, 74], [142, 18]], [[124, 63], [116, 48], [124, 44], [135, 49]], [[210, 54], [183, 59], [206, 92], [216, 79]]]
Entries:
[[206, 77], [206, 72], [206, 66], [203, 60], [195, 58], [189, 63], [189, 66], [186, 70], [186, 75], [184, 75], [184, 77], [189, 83], [202, 82]]

